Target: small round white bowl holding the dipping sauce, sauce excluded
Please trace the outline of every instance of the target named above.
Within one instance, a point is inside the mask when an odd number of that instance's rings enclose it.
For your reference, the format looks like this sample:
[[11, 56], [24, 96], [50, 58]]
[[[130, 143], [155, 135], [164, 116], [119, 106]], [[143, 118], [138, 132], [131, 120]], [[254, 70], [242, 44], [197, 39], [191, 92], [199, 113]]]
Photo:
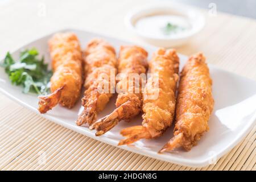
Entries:
[[[146, 32], [141, 32], [135, 27], [135, 24], [139, 19], [152, 15], [182, 16], [188, 20], [191, 28], [186, 30], [183, 34], [172, 35], [171, 37], [159, 37], [148, 35]], [[192, 36], [195, 36], [203, 29], [205, 19], [203, 14], [189, 6], [177, 5], [174, 3], [161, 3], [147, 7], [144, 6], [130, 11], [130, 13], [125, 16], [125, 24], [135, 35], [154, 46], [178, 47], [187, 43]]]

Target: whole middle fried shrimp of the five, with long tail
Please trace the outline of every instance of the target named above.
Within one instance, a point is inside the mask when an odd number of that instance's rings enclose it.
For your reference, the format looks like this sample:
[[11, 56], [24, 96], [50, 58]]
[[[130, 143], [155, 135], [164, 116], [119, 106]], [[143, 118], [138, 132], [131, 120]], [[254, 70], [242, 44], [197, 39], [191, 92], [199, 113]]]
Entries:
[[[115, 109], [105, 118], [95, 122], [90, 129], [96, 129], [96, 135], [102, 135], [112, 129], [121, 120], [130, 121], [139, 114], [142, 107], [142, 79], [138, 77], [147, 71], [147, 52], [138, 46], [122, 46], [119, 52], [117, 89], [119, 90]], [[133, 73], [137, 74], [134, 75]], [[135, 81], [137, 76], [139, 81]]]

